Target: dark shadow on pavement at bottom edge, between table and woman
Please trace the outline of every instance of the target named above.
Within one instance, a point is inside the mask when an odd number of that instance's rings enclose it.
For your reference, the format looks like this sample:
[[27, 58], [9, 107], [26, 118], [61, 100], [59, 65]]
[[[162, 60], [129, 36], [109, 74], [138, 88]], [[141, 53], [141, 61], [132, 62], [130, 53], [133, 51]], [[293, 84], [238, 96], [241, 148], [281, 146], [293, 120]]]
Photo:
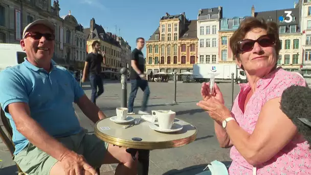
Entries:
[[[231, 164], [231, 161], [224, 161], [223, 163], [227, 166], [227, 168], [229, 168], [229, 166]], [[186, 175], [186, 174], [187, 175], [195, 175], [195, 174], [203, 172], [203, 169], [207, 165], [208, 164], [193, 165], [193, 166], [189, 166], [189, 167], [186, 167], [186, 168], [183, 168], [183, 169], [180, 169], [180, 170], [172, 169], [172, 170], [169, 170], [169, 171], [163, 173], [163, 175], [170, 175], [170, 174], [174, 174], [174, 175]], [[208, 168], [207, 168], [207, 170], [208, 170]], [[206, 175], [207, 174], [209, 174], [209, 173], [206, 173]]]

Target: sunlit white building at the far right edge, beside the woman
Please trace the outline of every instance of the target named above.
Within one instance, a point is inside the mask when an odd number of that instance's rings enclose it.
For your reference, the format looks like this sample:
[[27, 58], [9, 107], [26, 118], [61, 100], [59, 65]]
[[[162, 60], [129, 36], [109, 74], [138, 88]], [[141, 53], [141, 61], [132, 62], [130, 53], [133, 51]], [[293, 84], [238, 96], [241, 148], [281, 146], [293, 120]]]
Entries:
[[311, 1], [303, 0], [301, 3], [301, 45], [302, 45], [302, 71], [304, 75], [311, 76]]

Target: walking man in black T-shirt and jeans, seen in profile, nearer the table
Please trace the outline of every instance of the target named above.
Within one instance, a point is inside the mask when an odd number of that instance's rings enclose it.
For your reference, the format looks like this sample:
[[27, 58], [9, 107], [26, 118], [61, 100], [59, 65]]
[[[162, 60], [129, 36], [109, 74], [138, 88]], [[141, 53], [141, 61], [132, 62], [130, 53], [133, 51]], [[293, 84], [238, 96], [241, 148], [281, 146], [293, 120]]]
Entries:
[[128, 114], [134, 114], [133, 106], [134, 100], [140, 88], [144, 92], [144, 97], [142, 101], [141, 110], [138, 114], [149, 114], [146, 112], [147, 109], [147, 102], [150, 95], [150, 90], [148, 86], [148, 81], [146, 80], [146, 76], [144, 74], [145, 70], [145, 58], [142, 53], [142, 49], [145, 45], [145, 39], [139, 37], [136, 39], [137, 47], [132, 51], [132, 58], [130, 61], [131, 71], [130, 71], [130, 83], [131, 83], [131, 91], [128, 98]]

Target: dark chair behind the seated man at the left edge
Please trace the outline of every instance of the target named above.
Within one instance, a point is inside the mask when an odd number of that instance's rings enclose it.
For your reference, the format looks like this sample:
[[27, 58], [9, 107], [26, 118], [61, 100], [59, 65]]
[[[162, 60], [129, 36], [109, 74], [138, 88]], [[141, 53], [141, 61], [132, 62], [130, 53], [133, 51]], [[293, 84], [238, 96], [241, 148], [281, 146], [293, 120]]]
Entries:
[[[12, 136], [13, 136], [12, 127], [10, 125], [9, 119], [5, 116], [5, 113], [1, 107], [0, 107], [0, 110], [1, 110], [0, 118], [1, 118], [2, 123], [3, 123], [5, 129], [8, 133], [8, 135], [6, 135], [5, 131], [2, 129], [2, 127], [0, 127], [0, 138], [3, 140], [5, 145], [9, 148], [11, 156], [13, 157], [13, 152], [15, 151], [15, 147], [14, 147], [14, 144], [12, 142]], [[18, 169], [18, 175], [27, 175], [25, 172], [21, 171], [21, 169], [19, 168], [19, 166], [17, 164], [16, 164], [16, 166]]]

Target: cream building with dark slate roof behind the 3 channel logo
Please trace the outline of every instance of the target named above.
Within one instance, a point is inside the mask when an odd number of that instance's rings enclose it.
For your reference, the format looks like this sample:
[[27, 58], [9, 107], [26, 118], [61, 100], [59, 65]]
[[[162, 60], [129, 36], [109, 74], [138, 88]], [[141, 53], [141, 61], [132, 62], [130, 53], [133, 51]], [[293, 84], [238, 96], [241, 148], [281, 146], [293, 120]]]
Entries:
[[[285, 11], [292, 12], [292, 21], [290, 23], [286, 22], [290, 20], [290, 17], [286, 16], [287, 12]], [[254, 15], [266, 21], [275, 21], [279, 26], [281, 50], [277, 60], [278, 66], [281, 66], [286, 71], [299, 70], [303, 63], [299, 6], [295, 4], [295, 8], [292, 9], [255, 12]], [[280, 20], [280, 16], [283, 16], [284, 19]]]

